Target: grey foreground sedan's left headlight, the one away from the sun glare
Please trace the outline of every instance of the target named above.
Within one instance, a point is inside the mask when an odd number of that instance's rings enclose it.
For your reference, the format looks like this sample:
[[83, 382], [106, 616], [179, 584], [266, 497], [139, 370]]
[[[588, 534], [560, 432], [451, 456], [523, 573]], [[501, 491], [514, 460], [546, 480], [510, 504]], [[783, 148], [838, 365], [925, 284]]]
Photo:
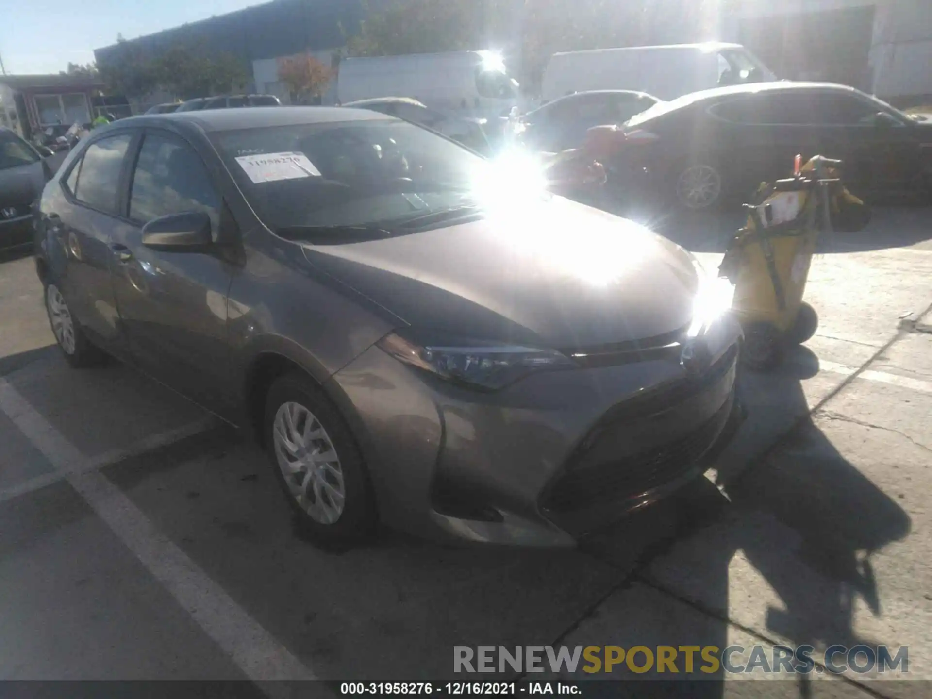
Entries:
[[503, 345], [484, 340], [421, 345], [391, 333], [380, 339], [377, 345], [399, 362], [454, 383], [487, 391], [498, 391], [538, 371], [576, 365], [555, 349]]

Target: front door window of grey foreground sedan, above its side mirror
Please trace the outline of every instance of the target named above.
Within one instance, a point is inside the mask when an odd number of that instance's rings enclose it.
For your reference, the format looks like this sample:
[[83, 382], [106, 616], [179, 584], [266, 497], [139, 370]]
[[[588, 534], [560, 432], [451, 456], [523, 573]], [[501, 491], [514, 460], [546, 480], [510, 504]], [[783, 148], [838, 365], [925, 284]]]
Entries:
[[132, 175], [130, 218], [140, 224], [171, 213], [205, 212], [213, 229], [221, 199], [200, 156], [173, 138], [146, 135]]

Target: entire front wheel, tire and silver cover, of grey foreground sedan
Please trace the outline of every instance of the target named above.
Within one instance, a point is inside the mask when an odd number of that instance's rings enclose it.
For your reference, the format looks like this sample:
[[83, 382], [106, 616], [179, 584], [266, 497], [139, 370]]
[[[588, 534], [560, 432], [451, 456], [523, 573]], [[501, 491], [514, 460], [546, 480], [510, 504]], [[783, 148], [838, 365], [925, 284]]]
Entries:
[[375, 525], [363, 457], [336, 407], [295, 373], [269, 388], [263, 425], [268, 458], [303, 533], [322, 542], [359, 541]]

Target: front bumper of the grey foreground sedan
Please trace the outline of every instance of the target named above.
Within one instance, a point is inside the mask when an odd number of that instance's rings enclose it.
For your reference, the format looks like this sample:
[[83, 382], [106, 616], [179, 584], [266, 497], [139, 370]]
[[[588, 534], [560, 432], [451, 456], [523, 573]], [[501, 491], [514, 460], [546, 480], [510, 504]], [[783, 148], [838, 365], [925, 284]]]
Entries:
[[331, 380], [352, 406], [379, 514], [437, 540], [573, 546], [703, 473], [731, 439], [740, 328], [710, 367], [665, 358], [541, 373], [469, 391], [368, 349]]

